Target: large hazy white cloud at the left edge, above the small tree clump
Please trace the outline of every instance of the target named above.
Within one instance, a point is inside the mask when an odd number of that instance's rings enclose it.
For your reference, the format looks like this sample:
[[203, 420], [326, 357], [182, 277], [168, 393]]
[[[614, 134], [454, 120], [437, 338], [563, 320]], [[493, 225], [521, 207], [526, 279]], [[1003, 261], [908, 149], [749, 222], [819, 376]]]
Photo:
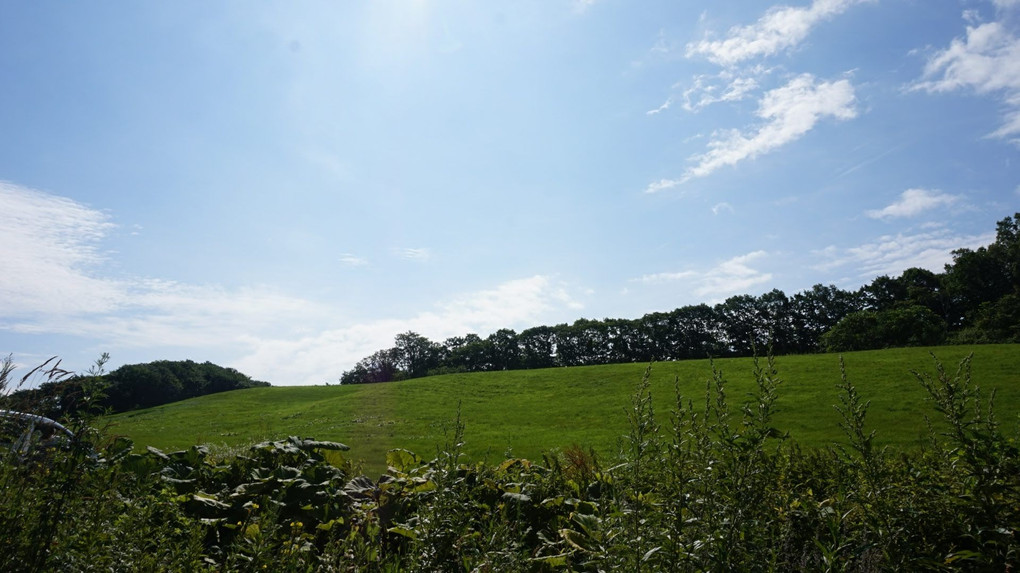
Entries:
[[2, 328], [94, 336], [131, 347], [218, 344], [242, 328], [278, 329], [320, 309], [265, 288], [104, 275], [106, 213], [63, 197], [0, 184]]

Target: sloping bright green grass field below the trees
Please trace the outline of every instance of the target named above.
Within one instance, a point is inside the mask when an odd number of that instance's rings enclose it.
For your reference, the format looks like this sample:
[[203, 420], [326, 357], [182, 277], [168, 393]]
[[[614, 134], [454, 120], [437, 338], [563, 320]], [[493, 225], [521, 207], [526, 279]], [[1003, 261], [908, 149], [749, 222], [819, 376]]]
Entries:
[[[844, 355], [848, 376], [871, 401], [868, 424], [879, 444], [911, 448], [937, 418], [912, 370], [934, 372], [934, 353], [950, 371], [973, 353], [973, 380], [998, 390], [996, 407], [1007, 432], [1020, 420], [1020, 345], [896, 349]], [[715, 362], [737, 408], [753, 388], [751, 359]], [[805, 447], [842, 440], [835, 384], [839, 357], [784, 356], [775, 360], [779, 387], [776, 426]], [[386, 452], [406, 448], [429, 457], [453, 437], [458, 404], [468, 459], [495, 461], [507, 451], [539, 459], [578, 445], [615, 452], [627, 431], [626, 410], [647, 365], [621, 364], [454, 374], [355, 386], [264, 387], [206, 396], [111, 416], [109, 431], [137, 447], [184, 449], [196, 444], [245, 446], [287, 435], [342, 441], [369, 473], [385, 469]], [[652, 392], [660, 423], [668, 424], [673, 381], [696, 405], [711, 379], [708, 360], [657, 363]]]

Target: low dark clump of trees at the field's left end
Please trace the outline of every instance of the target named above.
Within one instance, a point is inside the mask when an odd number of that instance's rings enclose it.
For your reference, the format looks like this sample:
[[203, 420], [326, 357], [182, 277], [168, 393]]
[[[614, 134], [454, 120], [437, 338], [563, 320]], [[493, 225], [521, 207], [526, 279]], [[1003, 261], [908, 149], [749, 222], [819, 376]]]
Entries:
[[[86, 397], [98, 397], [94, 404], [88, 406], [116, 413], [207, 394], [269, 385], [269, 382], [253, 380], [234, 368], [191, 360], [125, 364], [103, 374], [101, 370], [108, 358], [108, 355], [103, 355], [96, 370], [89, 375], [73, 375], [54, 365], [48, 372], [60, 375], [51, 376], [38, 387], [0, 396], [0, 409], [35, 412], [57, 420], [73, 416], [87, 406], [84, 403]], [[93, 387], [87, 388], [86, 385]]]

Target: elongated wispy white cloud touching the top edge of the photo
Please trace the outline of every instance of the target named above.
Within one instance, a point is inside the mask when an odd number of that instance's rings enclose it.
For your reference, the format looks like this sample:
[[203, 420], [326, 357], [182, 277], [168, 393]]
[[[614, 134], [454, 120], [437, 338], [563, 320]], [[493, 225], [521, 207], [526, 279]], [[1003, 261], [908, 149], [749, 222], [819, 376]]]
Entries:
[[750, 25], [733, 27], [723, 40], [687, 44], [687, 57], [705, 56], [730, 66], [759, 56], [771, 56], [800, 44], [819, 22], [868, 0], [815, 0], [808, 7], [775, 6]]

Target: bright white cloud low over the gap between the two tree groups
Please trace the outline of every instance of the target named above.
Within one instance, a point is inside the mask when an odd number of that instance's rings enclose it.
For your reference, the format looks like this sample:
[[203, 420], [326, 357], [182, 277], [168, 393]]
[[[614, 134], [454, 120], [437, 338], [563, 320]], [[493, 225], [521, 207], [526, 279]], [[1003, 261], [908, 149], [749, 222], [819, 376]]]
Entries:
[[234, 365], [273, 384], [322, 383], [336, 380], [371, 353], [391, 348], [400, 332], [414, 330], [441, 342], [467, 332], [486, 335], [503, 327], [526, 328], [550, 313], [579, 308], [565, 285], [537, 275], [462, 295], [410, 318], [352, 324], [297, 340], [249, 336], [245, 343], [250, 352]]

